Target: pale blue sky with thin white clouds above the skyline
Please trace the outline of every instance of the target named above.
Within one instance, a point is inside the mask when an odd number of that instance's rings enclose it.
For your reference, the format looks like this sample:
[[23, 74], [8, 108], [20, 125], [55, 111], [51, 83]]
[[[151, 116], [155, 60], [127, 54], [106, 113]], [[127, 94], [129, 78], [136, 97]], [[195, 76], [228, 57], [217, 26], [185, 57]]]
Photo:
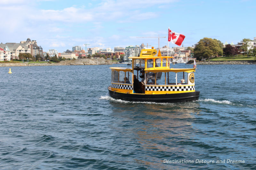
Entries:
[[[1, 0], [0, 43], [36, 40], [45, 52], [74, 46], [112, 48], [168, 44], [168, 27], [186, 37], [228, 43], [256, 37], [255, 0]], [[169, 43], [169, 47], [177, 47]]]

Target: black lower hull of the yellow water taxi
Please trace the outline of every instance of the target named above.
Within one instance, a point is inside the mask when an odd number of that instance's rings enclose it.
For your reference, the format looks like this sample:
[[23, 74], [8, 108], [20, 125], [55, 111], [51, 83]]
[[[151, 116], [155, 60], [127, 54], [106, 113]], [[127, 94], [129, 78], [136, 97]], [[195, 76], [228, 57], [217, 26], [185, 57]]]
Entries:
[[158, 102], [158, 103], [179, 103], [195, 101], [199, 98], [199, 91], [175, 93], [175, 94], [131, 94], [112, 91], [108, 88], [109, 95], [114, 99], [127, 101]]

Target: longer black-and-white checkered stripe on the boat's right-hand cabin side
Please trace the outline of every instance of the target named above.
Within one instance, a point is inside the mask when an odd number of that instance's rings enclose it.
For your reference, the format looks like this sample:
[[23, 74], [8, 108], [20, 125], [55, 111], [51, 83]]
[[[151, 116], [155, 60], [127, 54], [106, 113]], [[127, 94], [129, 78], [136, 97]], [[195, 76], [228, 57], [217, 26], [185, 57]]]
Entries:
[[188, 86], [146, 86], [146, 91], [190, 91], [195, 90], [195, 85]]

